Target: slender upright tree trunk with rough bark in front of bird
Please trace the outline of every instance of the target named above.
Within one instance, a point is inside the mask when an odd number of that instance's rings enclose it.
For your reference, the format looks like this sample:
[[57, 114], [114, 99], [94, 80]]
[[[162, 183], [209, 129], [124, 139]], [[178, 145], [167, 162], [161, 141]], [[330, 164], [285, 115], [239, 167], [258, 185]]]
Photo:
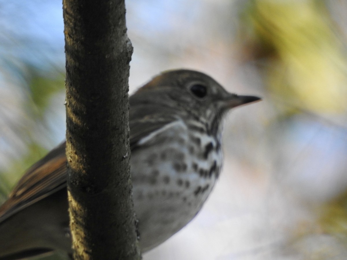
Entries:
[[141, 259], [130, 180], [124, 0], [63, 0], [74, 259]]

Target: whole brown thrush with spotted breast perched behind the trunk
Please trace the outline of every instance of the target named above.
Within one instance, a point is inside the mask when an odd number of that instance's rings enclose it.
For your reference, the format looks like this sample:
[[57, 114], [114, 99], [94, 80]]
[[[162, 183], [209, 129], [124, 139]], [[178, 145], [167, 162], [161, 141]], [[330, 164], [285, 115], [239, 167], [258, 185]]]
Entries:
[[[133, 200], [148, 251], [201, 209], [222, 166], [221, 119], [259, 100], [230, 94], [209, 76], [173, 70], [130, 97]], [[71, 252], [65, 143], [34, 164], [0, 207], [0, 259]]]

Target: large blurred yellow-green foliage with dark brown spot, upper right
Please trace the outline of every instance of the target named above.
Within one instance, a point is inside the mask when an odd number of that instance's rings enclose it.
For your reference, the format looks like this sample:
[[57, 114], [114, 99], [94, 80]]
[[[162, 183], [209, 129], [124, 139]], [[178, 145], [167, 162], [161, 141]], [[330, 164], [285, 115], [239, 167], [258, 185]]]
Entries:
[[346, 48], [324, 1], [252, 0], [243, 19], [248, 55], [261, 60], [275, 102], [346, 111]]

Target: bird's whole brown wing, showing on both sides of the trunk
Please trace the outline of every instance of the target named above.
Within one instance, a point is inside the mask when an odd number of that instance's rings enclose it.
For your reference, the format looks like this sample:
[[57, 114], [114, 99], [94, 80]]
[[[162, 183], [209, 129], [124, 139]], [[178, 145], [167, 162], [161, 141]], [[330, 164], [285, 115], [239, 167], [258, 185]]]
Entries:
[[[141, 140], [143, 143], [144, 138], [150, 136], [151, 133], [158, 132], [176, 120], [163, 115], [160, 115], [159, 118], [161, 119], [158, 120], [156, 113], [137, 113], [136, 115], [132, 114], [130, 118], [130, 149], [132, 152], [139, 147]], [[65, 146], [65, 142], [62, 143], [29, 168], [10, 193], [8, 200], [0, 206], [0, 222], [66, 187]]]

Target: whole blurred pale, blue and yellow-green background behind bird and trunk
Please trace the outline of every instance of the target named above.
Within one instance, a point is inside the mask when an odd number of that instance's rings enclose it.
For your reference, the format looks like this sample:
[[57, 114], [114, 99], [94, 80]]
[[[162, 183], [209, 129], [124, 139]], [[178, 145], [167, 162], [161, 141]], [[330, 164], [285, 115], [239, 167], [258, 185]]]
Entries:
[[[347, 2], [126, 6], [130, 93], [189, 68], [263, 98], [228, 116], [200, 214], [143, 259], [346, 259]], [[0, 202], [65, 138], [63, 29], [61, 0], [0, 0]]]

